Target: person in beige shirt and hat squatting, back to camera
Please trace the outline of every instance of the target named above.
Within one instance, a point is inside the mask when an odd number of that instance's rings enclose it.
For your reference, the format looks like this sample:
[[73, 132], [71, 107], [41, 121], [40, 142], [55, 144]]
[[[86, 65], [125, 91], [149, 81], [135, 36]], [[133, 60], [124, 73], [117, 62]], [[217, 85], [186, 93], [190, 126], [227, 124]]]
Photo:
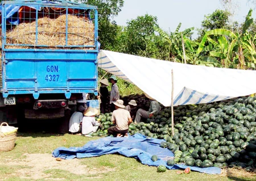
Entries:
[[130, 112], [125, 110], [123, 106], [123, 100], [118, 99], [114, 102], [115, 111], [112, 113], [112, 121], [115, 126], [109, 127], [108, 134], [112, 134], [117, 137], [128, 137], [129, 125], [133, 122], [131, 120]]

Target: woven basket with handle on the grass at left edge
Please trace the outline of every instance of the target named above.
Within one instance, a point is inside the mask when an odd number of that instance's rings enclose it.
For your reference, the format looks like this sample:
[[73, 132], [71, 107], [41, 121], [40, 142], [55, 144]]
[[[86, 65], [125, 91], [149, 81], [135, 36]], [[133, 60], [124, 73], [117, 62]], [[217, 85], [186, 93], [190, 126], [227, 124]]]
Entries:
[[0, 126], [0, 151], [10, 151], [14, 149], [16, 132], [11, 134], [3, 134], [2, 133], [2, 125], [7, 123], [2, 123]]

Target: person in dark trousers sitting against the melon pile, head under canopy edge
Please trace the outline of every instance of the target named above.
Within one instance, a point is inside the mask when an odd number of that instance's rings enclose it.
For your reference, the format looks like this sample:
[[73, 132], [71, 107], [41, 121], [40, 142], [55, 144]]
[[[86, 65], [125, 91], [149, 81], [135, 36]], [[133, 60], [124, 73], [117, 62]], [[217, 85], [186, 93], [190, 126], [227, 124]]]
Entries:
[[145, 96], [150, 99], [150, 108], [148, 111], [145, 111], [143, 109], [139, 109], [136, 113], [136, 117], [134, 120], [135, 124], [141, 123], [141, 118], [151, 118], [152, 116], [154, 116], [154, 114], [158, 114], [158, 112], [160, 111], [161, 107], [159, 105], [159, 103], [151, 98], [151, 96], [149, 96], [148, 94], [145, 93]]

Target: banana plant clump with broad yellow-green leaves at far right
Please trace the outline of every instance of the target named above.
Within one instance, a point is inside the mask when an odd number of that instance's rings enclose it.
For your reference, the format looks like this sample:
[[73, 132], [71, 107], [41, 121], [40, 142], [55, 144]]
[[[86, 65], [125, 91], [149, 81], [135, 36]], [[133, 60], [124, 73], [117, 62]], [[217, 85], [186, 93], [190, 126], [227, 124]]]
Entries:
[[[233, 33], [225, 29], [211, 30], [205, 33], [201, 41], [197, 54], [205, 48], [205, 42], [208, 40], [213, 45], [214, 50], [210, 51], [210, 56], [221, 60], [222, 66], [225, 68], [238, 69], [255, 69], [255, 36], [252, 37], [248, 32], [248, 28], [253, 23], [250, 10], [246, 16], [246, 21], [243, 24], [242, 33]], [[218, 41], [210, 38], [211, 35], [217, 35]]]

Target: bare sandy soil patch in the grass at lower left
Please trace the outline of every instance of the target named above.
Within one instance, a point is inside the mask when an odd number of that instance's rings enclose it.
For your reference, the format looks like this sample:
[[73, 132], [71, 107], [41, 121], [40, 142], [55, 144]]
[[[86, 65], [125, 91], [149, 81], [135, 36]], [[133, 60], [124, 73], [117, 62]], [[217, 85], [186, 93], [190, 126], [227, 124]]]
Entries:
[[[86, 165], [81, 165], [81, 159], [61, 159], [57, 161], [56, 158], [52, 157], [51, 154], [24, 154], [26, 158], [11, 161], [6, 159], [1, 159], [1, 163], [5, 165], [15, 165], [15, 166], [24, 166], [24, 168], [19, 170], [14, 170], [16, 176], [19, 178], [27, 179], [42, 179], [42, 178], [51, 178], [50, 174], [44, 173], [46, 170], [50, 169], [59, 169], [66, 170], [72, 174], [77, 175], [94, 175], [102, 174], [102, 172], [113, 171], [114, 169], [109, 168], [98, 168], [98, 169], [89, 169]], [[51, 178], [52, 179], [52, 178]], [[61, 180], [61, 179], [56, 179]]]

